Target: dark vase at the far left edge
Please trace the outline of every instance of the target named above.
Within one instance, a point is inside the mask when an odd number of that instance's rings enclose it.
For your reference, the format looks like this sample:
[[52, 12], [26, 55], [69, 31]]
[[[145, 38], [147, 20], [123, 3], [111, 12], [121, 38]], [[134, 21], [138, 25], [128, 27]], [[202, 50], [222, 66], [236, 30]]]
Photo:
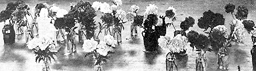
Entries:
[[11, 24], [6, 24], [3, 26], [3, 41], [5, 44], [13, 44], [15, 43], [15, 31], [14, 26]]

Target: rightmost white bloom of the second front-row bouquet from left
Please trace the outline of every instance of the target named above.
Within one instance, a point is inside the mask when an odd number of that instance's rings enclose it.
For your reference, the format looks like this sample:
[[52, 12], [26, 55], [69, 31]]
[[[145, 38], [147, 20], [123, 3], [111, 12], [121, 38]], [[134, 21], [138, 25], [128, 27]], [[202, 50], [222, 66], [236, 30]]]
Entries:
[[114, 37], [111, 35], [105, 35], [104, 41], [106, 44], [112, 45], [112, 47], [115, 47], [115, 44], [117, 44], [117, 40], [114, 40]]

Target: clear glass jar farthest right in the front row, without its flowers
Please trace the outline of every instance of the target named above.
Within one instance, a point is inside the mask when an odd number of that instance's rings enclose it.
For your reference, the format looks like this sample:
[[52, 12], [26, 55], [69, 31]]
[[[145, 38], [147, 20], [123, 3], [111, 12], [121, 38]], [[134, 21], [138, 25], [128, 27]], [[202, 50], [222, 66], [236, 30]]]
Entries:
[[228, 53], [226, 52], [226, 48], [222, 47], [218, 50], [218, 54], [217, 54], [217, 64], [218, 64], [218, 69], [220, 70], [228, 70], [228, 66], [229, 66], [229, 57], [228, 57]]

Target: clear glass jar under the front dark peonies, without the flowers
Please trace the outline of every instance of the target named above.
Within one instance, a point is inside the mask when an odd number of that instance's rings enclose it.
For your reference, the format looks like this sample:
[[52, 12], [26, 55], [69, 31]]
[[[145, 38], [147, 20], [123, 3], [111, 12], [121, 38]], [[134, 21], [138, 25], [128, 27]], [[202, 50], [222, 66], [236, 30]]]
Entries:
[[207, 59], [205, 56], [196, 57], [196, 71], [206, 71]]

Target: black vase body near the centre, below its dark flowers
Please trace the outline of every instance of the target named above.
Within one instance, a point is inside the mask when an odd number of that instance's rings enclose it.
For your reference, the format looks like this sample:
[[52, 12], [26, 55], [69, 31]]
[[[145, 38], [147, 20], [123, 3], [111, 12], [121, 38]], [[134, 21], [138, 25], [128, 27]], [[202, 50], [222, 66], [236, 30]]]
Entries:
[[[144, 35], [143, 35], [144, 33]], [[146, 51], [157, 51], [159, 35], [156, 31], [143, 31], [142, 32], [144, 47]]]

